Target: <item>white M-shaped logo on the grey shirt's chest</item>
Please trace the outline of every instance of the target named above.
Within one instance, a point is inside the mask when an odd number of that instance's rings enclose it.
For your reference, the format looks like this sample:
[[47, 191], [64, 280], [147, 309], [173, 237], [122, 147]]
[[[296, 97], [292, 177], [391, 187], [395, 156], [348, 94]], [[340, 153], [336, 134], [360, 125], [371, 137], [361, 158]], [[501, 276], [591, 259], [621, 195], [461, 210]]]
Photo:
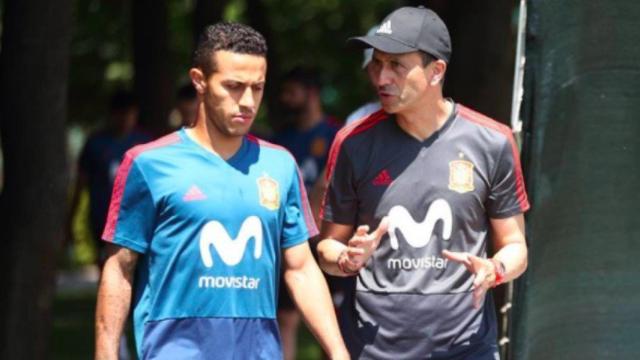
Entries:
[[424, 218], [417, 223], [409, 211], [403, 206], [396, 205], [389, 211], [389, 239], [391, 248], [398, 249], [398, 237], [396, 230], [401, 230], [409, 245], [414, 248], [426, 246], [431, 240], [433, 229], [439, 220], [442, 220], [442, 238], [449, 240], [453, 223], [451, 206], [443, 199], [434, 201]]

